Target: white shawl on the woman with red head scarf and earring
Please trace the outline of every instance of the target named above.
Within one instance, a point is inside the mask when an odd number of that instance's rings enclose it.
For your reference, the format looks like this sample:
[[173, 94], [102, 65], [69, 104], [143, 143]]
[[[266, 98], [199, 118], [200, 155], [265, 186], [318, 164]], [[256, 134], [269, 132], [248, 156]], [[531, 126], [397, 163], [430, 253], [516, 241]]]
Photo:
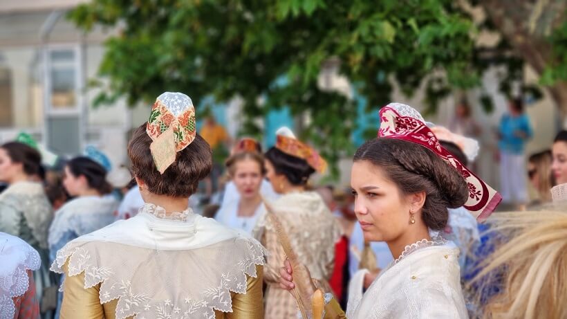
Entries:
[[364, 270], [349, 287], [346, 317], [468, 318], [461, 290], [458, 248], [451, 241], [431, 241], [407, 247], [407, 251], [382, 271], [362, 295]]

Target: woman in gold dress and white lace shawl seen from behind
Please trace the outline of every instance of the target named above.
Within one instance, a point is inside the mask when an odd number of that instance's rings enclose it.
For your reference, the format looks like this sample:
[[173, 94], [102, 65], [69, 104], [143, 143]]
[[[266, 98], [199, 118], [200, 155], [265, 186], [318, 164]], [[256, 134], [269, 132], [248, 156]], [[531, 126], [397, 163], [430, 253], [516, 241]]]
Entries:
[[262, 318], [264, 248], [188, 207], [212, 168], [191, 99], [160, 95], [128, 154], [145, 205], [57, 252], [61, 318]]

